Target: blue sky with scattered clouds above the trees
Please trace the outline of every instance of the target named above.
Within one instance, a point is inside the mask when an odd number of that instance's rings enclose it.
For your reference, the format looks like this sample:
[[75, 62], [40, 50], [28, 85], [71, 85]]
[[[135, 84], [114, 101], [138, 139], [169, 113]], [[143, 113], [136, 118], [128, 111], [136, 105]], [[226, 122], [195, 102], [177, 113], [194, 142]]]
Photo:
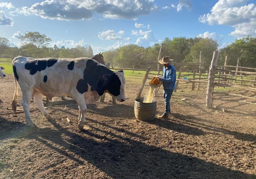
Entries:
[[6, 0], [0, 1], [0, 37], [38, 31], [49, 46], [149, 47], [166, 37], [210, 37], [219, 47], [256, 37], [256, 0]]

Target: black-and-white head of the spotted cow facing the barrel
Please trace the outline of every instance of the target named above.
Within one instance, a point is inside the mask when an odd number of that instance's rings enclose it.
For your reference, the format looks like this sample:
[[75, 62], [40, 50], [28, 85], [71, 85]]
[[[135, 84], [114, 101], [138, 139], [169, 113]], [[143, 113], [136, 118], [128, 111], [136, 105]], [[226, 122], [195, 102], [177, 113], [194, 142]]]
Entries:
[[125, 78], [123, 70], [116, 71], [112, 75], [103, 75], [105, 89], [110, 95], [115, 96], [117, 101], [125, 101]]

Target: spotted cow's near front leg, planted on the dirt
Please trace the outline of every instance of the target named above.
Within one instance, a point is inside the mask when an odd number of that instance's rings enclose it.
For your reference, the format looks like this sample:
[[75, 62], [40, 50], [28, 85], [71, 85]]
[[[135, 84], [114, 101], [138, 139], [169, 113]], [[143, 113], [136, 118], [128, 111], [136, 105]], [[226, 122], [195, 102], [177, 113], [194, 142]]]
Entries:
[[86, 107], [86, 102], [84, 100], [84, 95], [79, 95], [79, 96], [73, 96], [75, 101], [77, 102], [79, 106], [79, 123], [78, 123], [78, 128], [80, 130], [83, 130], [84, 124], [85, 124], [85, 113], [87, 111]]

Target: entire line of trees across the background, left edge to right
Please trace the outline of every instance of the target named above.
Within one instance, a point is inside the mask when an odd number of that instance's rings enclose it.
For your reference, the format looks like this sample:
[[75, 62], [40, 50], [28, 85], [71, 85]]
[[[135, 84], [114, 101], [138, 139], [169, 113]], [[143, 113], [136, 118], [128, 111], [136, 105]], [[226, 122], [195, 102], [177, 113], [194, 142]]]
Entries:
[[[10, 47], [9, 40], [0, 37], [0, 57], [14, 58], [22, 55], [34, 58], [77, 58], [93, 56], [93, 49], [90, 46], [58, 48], [55, 45], [54, 47], [48, 47], [51, 39], [39, 32], [27, 32], [20, 39], [23, 45], [18, 48]], [[210, 64], [213, 51], [218, 49], [218, 45], [212, 38], [165, 38], [162, 43], [161, 57], [168, 55], [177, 63], [199, 63], [201, 51], [202, 63]], [[130, 68], [133, 65], [137, 68], [139, 64], [150, 63], [154, 66], [159, 56], [160, 47], [160, 43], [155, 43], [147, 48], [131, 44], [115, 50], [105, 51], [103, 56], [111, 66], [120, 68]], [[219, 65], [224, 65], [225, 56], [227, 55], [228, 65], [236, 66], [239, 59], [240, 65], [243, 67], [256, 67], [256, 38], [247, 36], [235, 40], [234, 43], [219, 49], [219, 51]]]

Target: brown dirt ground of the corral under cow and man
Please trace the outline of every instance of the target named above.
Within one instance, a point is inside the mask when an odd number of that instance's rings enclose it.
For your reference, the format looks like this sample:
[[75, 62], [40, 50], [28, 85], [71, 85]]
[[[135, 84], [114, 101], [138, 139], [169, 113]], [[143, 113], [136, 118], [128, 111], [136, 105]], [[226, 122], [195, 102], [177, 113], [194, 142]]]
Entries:
[[[12, 75], [0, 79], [0, 179], [256, 179], [255, 105], [217, 93], [207, 109], [206, 90], [179, 90], [171, 119], [144, 122], [134, 116], [139, 87], [127, 80], [125, 102], [113, 105], [106, 94], [89, 104], [80, 132], [76, 106], [49, 108], [53, 121], [32, 111], [35, 129], [24, 113], [3, 115], [12, 112], [14, 83]], [[156, 101], [162, 113], [162, 89]]]

